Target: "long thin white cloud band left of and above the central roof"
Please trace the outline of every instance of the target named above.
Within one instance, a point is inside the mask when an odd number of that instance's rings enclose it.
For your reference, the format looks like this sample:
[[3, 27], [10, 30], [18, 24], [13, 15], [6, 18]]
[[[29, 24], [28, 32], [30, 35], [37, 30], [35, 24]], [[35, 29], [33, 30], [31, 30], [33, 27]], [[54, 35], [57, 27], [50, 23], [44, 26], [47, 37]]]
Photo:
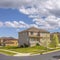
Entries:
[[38, 27], [38, 25], [36, 25], [36, 24], [27, 24], [27, 23], [25, 23], [25, 22], [23, 22], [23, 21], [13, 21], [13, 22], [10, 22], [10, 21], [6, 21], [6, 22], [4, 22], [4, 25], [6, 26], [6, 27], [12, 27], [12, 28], [17, 28], [17, 29], [19, 29], [19, 28], [29, 28], [29, 27]]

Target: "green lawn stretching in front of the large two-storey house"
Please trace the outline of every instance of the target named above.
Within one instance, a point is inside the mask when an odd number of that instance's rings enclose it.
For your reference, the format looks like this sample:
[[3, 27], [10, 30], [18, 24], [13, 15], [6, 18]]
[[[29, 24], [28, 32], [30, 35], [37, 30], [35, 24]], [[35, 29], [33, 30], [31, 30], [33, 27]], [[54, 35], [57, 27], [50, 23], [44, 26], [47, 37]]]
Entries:
[[[34, 47], [27, 47], [27, 48], [19, 48], [19, 47], [0, 47], [0, 49], [6, 49], [6, 50], [11, 50], [11, 51], [16, 51], [19, 53], [43, 53], [43, 52], [48, 52], [48, 51], [53, 51], [56, 49], [47, 49], [46, 47], [43, 46], [34, 46]], [[4, 52], [5, 53], [5, 52]], [[12, 54], [10, 52], [6, 52], [7, 54]]]

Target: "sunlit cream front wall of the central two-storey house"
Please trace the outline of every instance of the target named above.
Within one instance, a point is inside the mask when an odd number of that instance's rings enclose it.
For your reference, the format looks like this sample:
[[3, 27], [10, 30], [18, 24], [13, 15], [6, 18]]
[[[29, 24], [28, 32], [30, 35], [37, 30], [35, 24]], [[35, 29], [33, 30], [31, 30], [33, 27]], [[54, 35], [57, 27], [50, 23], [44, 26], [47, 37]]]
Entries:
[[35, 46], [37, 43], [39, 43], [40, 45], [44, 45], [46, 41], [50, 43], [50, 33], [33, 32], [33, 34], [31, 35], [31, 33], [29, 32], [29, 36], [30, 36], [29, 42], [31, 46]]

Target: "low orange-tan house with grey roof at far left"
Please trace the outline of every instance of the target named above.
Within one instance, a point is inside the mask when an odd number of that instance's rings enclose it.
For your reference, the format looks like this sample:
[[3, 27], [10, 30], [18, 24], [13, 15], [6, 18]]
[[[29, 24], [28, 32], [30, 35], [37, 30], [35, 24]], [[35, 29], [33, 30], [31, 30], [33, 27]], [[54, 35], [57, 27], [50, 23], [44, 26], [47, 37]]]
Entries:
[[18, 39], [12, 37], [1, 37], [0, 46], [18, 46]]

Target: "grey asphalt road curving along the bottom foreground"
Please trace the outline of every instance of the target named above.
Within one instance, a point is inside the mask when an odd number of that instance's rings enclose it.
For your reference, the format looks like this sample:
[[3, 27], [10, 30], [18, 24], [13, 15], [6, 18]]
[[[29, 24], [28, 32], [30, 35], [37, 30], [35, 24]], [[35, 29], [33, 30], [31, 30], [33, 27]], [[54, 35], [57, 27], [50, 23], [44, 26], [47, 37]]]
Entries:
[[60, 51], [37, 56], [12, 57], [0, 54], [0, 60], [59, 60]]

